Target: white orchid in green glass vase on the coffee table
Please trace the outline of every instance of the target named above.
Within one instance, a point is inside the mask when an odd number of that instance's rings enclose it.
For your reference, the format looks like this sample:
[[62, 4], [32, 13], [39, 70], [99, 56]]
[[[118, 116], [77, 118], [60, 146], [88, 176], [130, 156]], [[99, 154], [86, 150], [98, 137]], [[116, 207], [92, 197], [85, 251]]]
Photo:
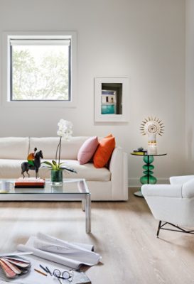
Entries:
[[60, 119], [58, 122], [58, 136], [60, 140], [55, 154], [55, 160], [52, 162], [44, 161], [42, 164], [45, 164], [45, 167], [50, 169], [50, 181], [53, 185], [62, 185], [63, 184], [63, 170], [67, 170], [72, 173], [77, 173], [72, 168], [67, 168], [64, 166], [64, 163], [60, 163], [60, 151], [61, 151], [61, 141], [62, 138], [65, 138], [66, 141], [69, 141], [72, 136], [72, 122]]

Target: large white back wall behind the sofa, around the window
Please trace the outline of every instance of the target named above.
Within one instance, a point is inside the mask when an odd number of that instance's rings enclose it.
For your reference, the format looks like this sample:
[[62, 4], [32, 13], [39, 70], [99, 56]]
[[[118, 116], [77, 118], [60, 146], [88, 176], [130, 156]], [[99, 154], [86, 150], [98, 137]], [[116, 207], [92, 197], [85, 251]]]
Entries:
[[[158, 116], [166, 126], [158, 138], [156, 176], [183, 174], [184, 166], [184, 0], [0, 0], [0, 32], [77, 31], [77, 108], [0, 107], [0, 136], [55, 136], [60, 118], [75, 136], [106, 136], [130, 153], [146, 147], [141, 121]], [[4, 72], [1, 68], [1, 72]], [[94, 78], [130, 78], [129, 123], [94, 123]], [[0, 85], [4, 82], [0, 82]], [[2, 93], [1, 93], [2, 96]], [[142, 161], [129, 155], [130, 185]]]

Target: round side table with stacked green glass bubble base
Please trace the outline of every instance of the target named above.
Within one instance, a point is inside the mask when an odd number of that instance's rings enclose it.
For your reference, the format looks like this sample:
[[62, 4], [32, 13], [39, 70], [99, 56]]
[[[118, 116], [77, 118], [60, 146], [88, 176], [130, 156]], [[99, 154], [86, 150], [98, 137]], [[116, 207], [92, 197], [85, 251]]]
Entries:
[[[152, 165], [153, 163], [153, 156], [161, 156], [161, 155], [167, 155], [167, 153], [165, 154], [155, 154], [155, 155], [139, 155], [136, 153], [131, 153], [131, 155], [136, 155], [139, 157], [143, 157], [144, 163], [145, 165], [143, 165], [143, 173], [144, 175], [140, 178], [140, 182], [141, 185], [145, 185], [145, 184], [151, 184], [151, 185], [155, 185], [155, 183], [157, 182], [157, 179], [155, 177], [153, 177], [153, 169], [154, 169], [154, 165]], [[136, 195], [137, 197], [144, 197], [144, 195], [142, 195], [141, 193], [141, 188], [139, 189], [139, 191], [134, 192], [134, 195]]]

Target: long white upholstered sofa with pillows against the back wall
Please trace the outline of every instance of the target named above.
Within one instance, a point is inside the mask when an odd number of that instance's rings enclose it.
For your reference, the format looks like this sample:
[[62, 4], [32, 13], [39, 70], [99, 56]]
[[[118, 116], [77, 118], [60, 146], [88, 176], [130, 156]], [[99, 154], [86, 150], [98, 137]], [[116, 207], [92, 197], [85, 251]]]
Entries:
[[[127, 154], [116, 147], [109, 161], [109, 168], [95, 168], [93, 163], [80, 165], [77, 153], [88, 137], [72, 137], [70, 141], [62, 141], [61, 161], [77, 171], [64, 173], [64, 178], [85, 178], [91, 192], [92, 200], [128, 200], [128, 166]], [[6, 137], [0, 138], [0, 179], [21, 177], [21, 163], [28, 153], [36, 147], [43, 151], [43, 160], [55, 159], [58, 137]], [[43, 161], [42, 160], [42, 161]], [[31, 177], [34, 171], [29, 171]], [[50, 178], [47, 168], [40, 168], [41, 178]]]

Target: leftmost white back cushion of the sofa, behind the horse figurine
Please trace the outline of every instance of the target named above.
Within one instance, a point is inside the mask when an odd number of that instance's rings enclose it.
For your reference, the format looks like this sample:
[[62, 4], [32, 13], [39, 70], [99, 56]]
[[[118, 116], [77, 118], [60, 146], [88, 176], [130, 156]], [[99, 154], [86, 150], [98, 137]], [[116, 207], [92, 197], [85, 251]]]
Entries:
[[1, 159], [26, 159], [28, 155], [28, 137], [4, 137], [0, 138]]

